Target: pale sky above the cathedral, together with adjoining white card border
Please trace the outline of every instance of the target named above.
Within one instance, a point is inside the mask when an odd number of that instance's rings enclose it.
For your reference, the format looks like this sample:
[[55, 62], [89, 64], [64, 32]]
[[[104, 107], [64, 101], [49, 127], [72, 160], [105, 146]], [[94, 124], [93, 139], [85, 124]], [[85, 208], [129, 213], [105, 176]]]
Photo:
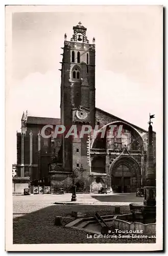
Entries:
[[[11, 17], [10, 115], [12, 161], [21, 116], [60, 117], [60, 75], [64, 33], [79, 22], [95, 37], [97, 108], [148, 129], [149, 113], [157, 130], [162, 115], [162, 7], [34, 7]], [[7, 69], [8, 71], [8, 69]], [[9, 72], [7, 72], [9, 74]], [[7, 117], [8, 117], [7, 116]], [[9, 118], [7, 118], [9, 119]], [[7, 121], [8, 124], [8, 121]]]

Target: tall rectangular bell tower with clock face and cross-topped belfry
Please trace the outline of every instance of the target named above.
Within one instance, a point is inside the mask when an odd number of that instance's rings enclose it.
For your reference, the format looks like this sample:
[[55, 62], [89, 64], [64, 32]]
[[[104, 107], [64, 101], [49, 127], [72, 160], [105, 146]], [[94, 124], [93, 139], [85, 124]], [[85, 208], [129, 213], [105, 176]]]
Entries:
[[[64, 47], [61, 68], [61, 124], [68, 130], [71, 125], [95, 124], [95, 39], [92, 44], [86, 36], [86, 28], [81, 22], [73, 27], [74, 34]], [[87, 145], [82, 139], [73, 136], [62, 138], [63, 165], [67, 171], [76, 167], [87, 167]], [[85, 148], [85, 149], [84, 149]], [[77, 154], [78, 153], [78, 154]]]

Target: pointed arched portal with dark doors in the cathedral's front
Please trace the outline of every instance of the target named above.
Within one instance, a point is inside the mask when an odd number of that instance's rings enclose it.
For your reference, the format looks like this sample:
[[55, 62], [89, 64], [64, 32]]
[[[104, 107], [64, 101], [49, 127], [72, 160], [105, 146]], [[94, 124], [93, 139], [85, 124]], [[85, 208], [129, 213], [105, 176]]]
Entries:
[[137, 161], [121, 156], [110, 166], [110, 186], [116, 193], [135, 192], [141, 186], [141, 172]]

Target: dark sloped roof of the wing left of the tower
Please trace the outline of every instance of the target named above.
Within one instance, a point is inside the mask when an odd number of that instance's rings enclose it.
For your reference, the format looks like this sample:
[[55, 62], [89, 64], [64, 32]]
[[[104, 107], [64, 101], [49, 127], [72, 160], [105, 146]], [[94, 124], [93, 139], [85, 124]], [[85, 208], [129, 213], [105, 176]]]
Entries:
[[27, 123], [29, 124], [60, 124], [60, 118], [51, 118], [51, 117], [36, 117], [36, 116], [28, 116]]

